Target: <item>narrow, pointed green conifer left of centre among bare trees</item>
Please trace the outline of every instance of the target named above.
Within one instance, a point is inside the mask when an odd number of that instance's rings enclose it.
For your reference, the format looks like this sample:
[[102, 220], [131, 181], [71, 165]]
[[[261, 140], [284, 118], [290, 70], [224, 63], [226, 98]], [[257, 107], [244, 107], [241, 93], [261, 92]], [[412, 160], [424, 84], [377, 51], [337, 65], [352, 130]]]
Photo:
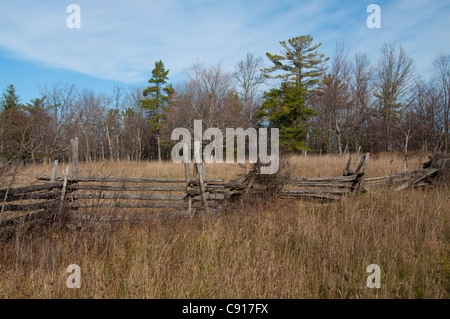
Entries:
[[152, 77], [148, 80], [150, 86], [147, 87], [141, 101], [142, 107], [147, 109], [150, 119], [150, 130], [155, 134], [158, 144], [158, 160], [161, 162], [161, 141], [160, 132], [164, 128], [164, 113], [167, 111], [169, 96], [173, 93], [172, 85], [166, 85], [169, 79], [169, 70], [165, 70], [162, 61], [155, 62]]

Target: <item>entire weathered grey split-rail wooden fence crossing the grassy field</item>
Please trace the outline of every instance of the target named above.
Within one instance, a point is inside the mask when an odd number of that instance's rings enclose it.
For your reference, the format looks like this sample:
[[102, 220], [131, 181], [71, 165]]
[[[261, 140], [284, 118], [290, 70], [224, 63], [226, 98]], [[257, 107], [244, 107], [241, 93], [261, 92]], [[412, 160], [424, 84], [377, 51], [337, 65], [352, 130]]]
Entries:
[[[193, 214], [217, 211], [232, 198], [243, 195], [267, 195], [267, 185], [261, 182], [259, 167], [237, 181], [226, 183], [223, 179], [207, 179], [203, 164], [185, 164], [185, 178], [131, 178], [111, 176], [78, 176], [78, 140], [72, 140], [72, 174], [69, 166], [57, 176], [58, 161], [51, 175], [37, 175], [42, 185], [0, 190], [3, 203], [1, 212], [26, 213], [21, 217], [1, 221], [0, 226], [13, 225], [19, 218], [31, 220], [46, 212], [57, 213], [63, 209], [80, 214], [79, 210], [103, 208], [165, 209]], [[357, 156], [359, 157], [359, 156]], [[344, 176], [289, 177], [277, 181], [275, 194], [282, 198], [312, 198], [338, 200], [379, 185], [394, 186], [395, 190], [417, 187], [430, 183], [437, 168], [406, 172], [391, 176], [365, 178], [369, 153], [355, 160], [350, 169], [351, 157], [344, 169]], [[146, 210], [147, 211], [147, 210]], [[1, 220], [1, 219], [0, 219]]]

